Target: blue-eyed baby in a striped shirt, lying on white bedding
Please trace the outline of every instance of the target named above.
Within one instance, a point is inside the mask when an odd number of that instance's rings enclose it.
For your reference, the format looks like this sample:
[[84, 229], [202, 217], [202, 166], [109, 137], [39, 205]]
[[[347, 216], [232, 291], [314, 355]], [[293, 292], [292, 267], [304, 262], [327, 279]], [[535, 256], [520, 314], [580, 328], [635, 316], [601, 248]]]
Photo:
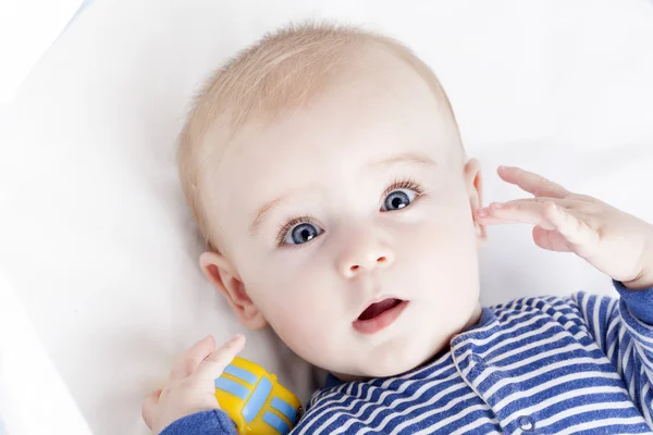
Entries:
[[[195, 101], [180, 173], [208, 279], [330, 373], [293, 434], [652, 433], [653, 225], [539, 175], [482, 206], [430, 69], [384, 36], [303, 25], [227, 62]], [[526, 223], [619, 299], [479, 302], [485, 227]], [[192, 347], [146, 397], [155, 434], [233, 434], [214, 380], [237, 336]]]

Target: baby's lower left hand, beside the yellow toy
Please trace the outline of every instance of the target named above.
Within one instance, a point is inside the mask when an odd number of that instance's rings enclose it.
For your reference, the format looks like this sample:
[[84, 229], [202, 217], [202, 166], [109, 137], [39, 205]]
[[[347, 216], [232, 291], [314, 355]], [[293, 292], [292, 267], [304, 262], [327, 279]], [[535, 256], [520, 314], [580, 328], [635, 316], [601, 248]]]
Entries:
[[245, 337], [236, 335], [215, 350], [208, 336], [186, 350], [170, 371], [164, 388], [150, 393], [143, 401], [143, 420], [155, 435], [182, 417], [219, 409], [215, 378], [245, 347]]

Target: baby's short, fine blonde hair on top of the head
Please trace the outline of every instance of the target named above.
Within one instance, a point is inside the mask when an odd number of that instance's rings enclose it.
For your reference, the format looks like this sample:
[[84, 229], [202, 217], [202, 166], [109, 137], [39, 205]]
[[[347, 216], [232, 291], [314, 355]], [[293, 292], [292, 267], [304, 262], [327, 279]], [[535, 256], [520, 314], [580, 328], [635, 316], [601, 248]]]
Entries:
[[[178, 171], [184, 196], [212, 249], [202, 203], [202, 167], [214, 151], [250, 120], [273, 119], [320, 95], [367, 48], [389, 50], [415, 69], [454, 117], [440, 82], [417, 55], [395, 39], [354, 26], [291, 25], [267, 34], [215, 71], [195, 97], [180, 135]], [[455, 117], [454, 117], [455, 121]], [[220, 132], [218, 140], [207, 136]]]

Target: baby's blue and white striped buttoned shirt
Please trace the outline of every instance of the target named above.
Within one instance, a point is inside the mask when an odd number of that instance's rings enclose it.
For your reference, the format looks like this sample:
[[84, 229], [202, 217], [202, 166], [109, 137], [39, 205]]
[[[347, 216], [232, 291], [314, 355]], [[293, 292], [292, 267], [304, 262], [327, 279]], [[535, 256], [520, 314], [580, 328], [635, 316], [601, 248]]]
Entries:
[[331, 376], [292, 434], [653, 434], [653, 288], [615, 287], [483, 308], [402, 375]]

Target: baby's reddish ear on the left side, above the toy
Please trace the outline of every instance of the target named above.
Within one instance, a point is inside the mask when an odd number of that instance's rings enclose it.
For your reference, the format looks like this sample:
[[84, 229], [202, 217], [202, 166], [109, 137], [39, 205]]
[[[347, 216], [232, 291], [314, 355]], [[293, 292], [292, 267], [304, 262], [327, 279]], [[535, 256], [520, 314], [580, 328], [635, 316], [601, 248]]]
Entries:
[[199, 265], [211, 284], [224, 295], [244, 326], [257, 331], [268, 325], [268, 321], [247, 296], [245, 285], [224, 256], [210, 251], [204, 252], [199, 257]]

